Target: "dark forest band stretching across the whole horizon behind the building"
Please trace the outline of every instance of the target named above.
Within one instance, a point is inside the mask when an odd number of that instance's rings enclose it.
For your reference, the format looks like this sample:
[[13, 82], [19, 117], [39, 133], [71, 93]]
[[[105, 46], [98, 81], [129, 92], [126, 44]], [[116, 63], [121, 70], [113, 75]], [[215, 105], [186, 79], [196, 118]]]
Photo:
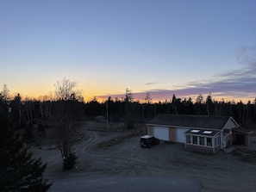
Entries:
[[[30, 100], [22, 98], [20, 94], [10, 99], [6, 85], [0, 92], [0, 108], [5, 108], [18, 129], [26, 128], [34, 121], [54, 121], [61, 102], [63, 99]], [[94, 120], [96, 116], [102, 115], [109, 122], [125, 122], [128, 128], [133, 128], [136, 123], [146, 123], [158, 114], [228, 115], [241, 127], [256, 127], [256, 98], [253, 102], [243, 103], [215, 101], [210, 95], [206, 99], [199, 95], [192, 102], [191, 98], [181, 100], [173, 95], [172, 100], [153, 103], [147, 93], [145, 101], [141, 103], [134, 101], [131, 90], [126, 90], [122, 100], [109, 97], [105, 102], [97, 102], [95, 97], [91, 102], [84, 102], [83, 98], [71, 95], [66, 102], [72, 106], [69, 113], [73, 121]]]

